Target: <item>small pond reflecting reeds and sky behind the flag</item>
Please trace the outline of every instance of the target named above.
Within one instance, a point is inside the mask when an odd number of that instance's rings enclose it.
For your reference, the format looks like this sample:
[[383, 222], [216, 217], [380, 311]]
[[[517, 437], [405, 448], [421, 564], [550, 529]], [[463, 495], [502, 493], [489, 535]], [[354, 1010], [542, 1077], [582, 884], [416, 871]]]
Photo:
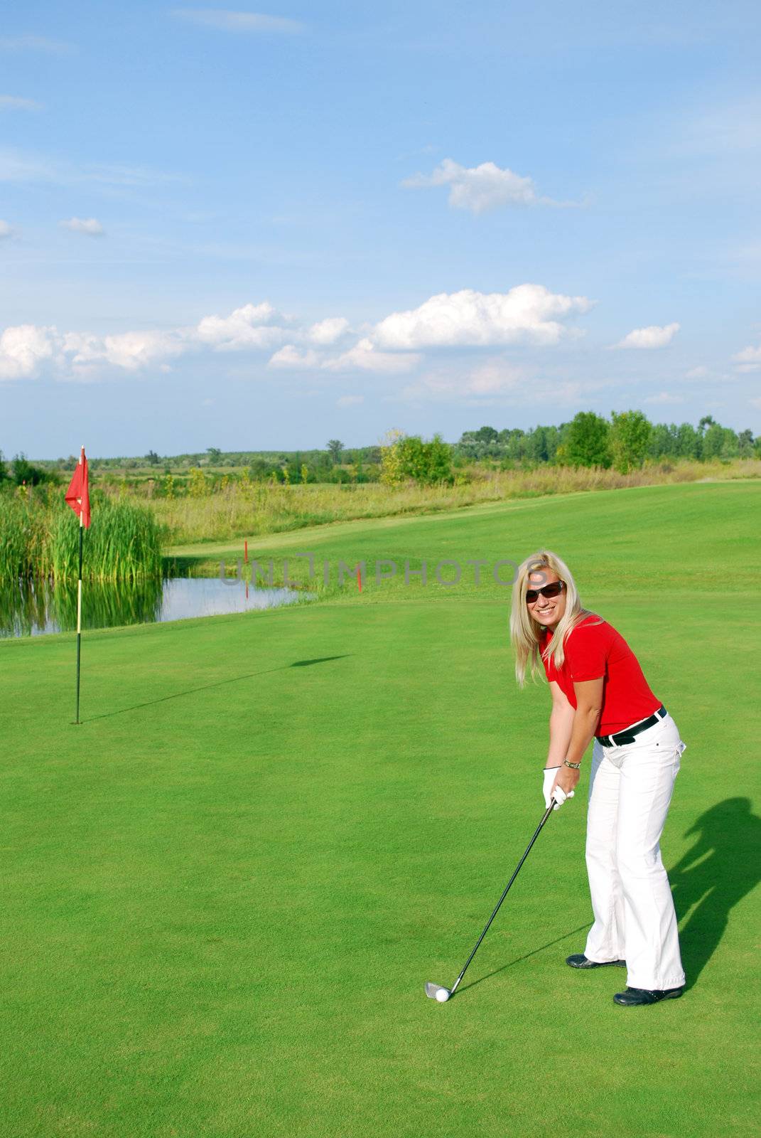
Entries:
[[[246, 580], [173, 577], [127, 585], [85, 582], [82, 627], [113, 628], [188, 617], [215, 617], [292, 604], [312, 593], [258, 588]], [[0, 637], [40, 636], [76, 629], [76, 584], [20, 583], [0, 588]]]

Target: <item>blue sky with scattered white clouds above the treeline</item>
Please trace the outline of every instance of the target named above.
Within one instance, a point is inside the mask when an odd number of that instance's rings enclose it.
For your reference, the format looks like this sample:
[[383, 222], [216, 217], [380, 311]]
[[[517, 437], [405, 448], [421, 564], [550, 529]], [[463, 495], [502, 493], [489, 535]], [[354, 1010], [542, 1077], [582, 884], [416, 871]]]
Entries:
[[0, 448], [628, 407], [761, 432], [760, 27], [733, 0], [15, 5]]

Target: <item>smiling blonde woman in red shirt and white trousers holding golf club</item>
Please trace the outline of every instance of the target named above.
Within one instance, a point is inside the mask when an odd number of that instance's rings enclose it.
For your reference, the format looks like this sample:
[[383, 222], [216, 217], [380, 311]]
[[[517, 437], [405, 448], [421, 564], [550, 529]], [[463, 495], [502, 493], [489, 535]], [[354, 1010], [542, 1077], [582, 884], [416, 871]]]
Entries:
[[552, 694], [545, 806], [573, 797], [593, 736], [587, 873], [595, 921], [573, 968], [621, 965], [624, 1007], [681, 996], [685, 973], [660, 838], [685, 744], [634, 652], [581, 607], [566, 564], [528, 558], [513, 586], [510, 632], [522, 686], [544, 666]]

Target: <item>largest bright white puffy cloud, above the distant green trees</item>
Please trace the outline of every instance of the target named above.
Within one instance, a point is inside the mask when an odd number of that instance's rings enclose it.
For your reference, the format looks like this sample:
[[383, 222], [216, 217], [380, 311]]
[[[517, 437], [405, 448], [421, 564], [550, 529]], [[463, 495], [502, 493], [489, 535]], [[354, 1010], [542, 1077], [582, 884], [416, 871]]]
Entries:
[[373, 330], [380, 347], [423, 348], [497, 344], [557, 344], [571, 330], [565, 316], [588, 312], [584, 296], [562, 296], [541, 284], [518, 284], [508, 292], [439, 292], [419, 308], [395, 312]]

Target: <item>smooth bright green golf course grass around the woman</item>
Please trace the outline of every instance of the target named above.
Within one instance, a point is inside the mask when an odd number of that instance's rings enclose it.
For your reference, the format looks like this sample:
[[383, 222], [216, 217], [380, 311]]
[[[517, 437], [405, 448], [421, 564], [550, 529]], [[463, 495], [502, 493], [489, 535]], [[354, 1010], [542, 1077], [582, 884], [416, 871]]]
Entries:
[[[0, 1135], [755, 1135], [760, 518], [761, 485], [717, 483], [278, 535], [400, 576], [88, 634], [78, 727], [73, 635], [0, 642]], [[515, 686], [490, 571], [540, 546], [687, 743], [662, 846], [688, 990], [655, 1007], [564, 964], [588, 760], [455, 999], [423, 993], [544, 810], [548, 693]]]

